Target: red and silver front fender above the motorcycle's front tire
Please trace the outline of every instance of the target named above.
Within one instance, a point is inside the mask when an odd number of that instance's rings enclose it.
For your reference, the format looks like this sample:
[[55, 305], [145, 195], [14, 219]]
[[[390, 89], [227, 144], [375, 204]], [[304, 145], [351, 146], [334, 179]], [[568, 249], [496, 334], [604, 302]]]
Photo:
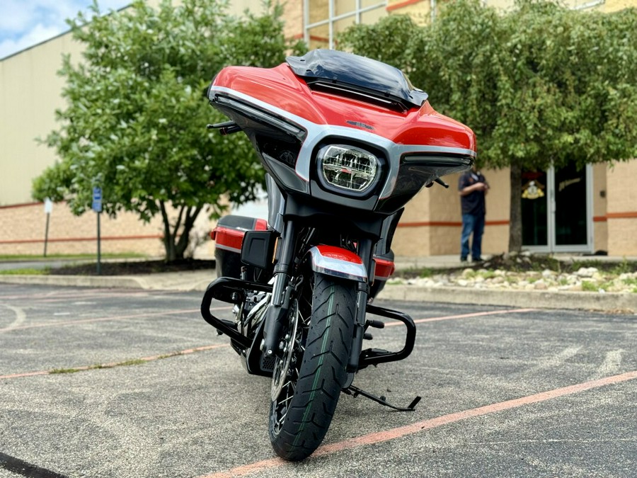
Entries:
[[314, 246], [309, 250], [312, 271], [333, 277], [367, 282], [367, 269], [352, 251], [336, 246]]

